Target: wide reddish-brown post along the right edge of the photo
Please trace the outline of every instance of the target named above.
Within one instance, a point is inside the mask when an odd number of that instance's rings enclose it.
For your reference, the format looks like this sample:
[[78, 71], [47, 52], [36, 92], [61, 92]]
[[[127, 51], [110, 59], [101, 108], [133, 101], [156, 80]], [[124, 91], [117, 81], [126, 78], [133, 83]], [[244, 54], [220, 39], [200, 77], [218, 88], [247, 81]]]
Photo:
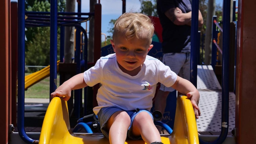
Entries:
[[255, 1], [238, 1], [236, 57], [236, 143], [255, 143]]

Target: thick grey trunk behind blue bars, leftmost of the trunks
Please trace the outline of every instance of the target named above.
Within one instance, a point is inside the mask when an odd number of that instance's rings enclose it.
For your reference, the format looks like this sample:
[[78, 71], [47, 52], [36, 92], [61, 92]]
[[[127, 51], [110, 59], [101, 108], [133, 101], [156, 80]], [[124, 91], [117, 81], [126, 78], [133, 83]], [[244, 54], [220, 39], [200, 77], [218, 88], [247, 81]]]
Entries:
[[[75, 12], [75, 2], [74, 0], [67, 0], [66, 3], [66, 12]], [[64, 42], [64, 62], [72, 63], [72, 57], [74, 57], [75, 49], [74, 49], [74, 40], [75, 40], [75, 27], [66, 26], [65, 27], [65, 42]]]

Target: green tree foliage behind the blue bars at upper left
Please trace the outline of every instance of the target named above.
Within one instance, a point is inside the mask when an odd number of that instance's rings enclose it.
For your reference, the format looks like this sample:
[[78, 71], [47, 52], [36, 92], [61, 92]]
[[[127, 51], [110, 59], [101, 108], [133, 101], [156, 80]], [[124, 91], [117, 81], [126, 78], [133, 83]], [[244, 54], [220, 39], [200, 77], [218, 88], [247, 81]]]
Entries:
[[[48, 0], [26, 0], [26, 11], [50, 12]], [[65, 11], [65, 0], [58, 1], [58, 12]], [[25, 63], [26, 65], [47, 66], [50, 64], [50, 27], [26, 27]], [[58, 27], [58, 52], [60, 45], [60, 28]], [[58, 58], [59, 59], [59, 58]], [[39, 69], [29, 68], [29, 72]]]

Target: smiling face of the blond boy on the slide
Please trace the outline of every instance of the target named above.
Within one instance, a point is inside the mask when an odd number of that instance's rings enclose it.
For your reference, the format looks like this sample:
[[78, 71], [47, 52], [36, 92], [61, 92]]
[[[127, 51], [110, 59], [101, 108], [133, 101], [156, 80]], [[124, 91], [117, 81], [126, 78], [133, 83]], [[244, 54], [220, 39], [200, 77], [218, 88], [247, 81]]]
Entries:
[[148, 44], [148, 40], [132, 38], [127, 41], [120, 35], [110, 42], [116, 53], [119, 68], [129, 75], [138, 74], [148, 51], [153, 47]]

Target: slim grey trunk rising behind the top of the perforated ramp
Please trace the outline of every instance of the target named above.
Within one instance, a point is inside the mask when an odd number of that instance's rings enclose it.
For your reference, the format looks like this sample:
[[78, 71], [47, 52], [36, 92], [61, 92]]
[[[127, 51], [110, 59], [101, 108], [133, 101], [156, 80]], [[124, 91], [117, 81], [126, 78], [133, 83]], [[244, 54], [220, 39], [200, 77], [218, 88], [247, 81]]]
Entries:
[[211, 44], [212, 44], [212, 17], [215, 15], [215, 0], [208, 0], [207, 20], [206, 20], [206, 34], [205, 34], [205, 64], [209, 65], [211, 62]]

